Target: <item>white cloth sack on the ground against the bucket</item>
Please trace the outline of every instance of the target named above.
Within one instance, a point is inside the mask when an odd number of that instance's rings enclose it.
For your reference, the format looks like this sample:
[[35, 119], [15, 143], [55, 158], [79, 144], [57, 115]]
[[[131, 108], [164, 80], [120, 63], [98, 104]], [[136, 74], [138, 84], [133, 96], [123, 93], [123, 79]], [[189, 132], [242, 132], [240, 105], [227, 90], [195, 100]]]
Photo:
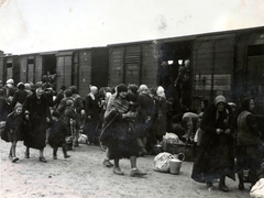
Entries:
[[163, 152], [155, 156], [153, 162], [153, 169], [157, 172], [169, 172], [169, 161], [174, 158], [170, 153]]

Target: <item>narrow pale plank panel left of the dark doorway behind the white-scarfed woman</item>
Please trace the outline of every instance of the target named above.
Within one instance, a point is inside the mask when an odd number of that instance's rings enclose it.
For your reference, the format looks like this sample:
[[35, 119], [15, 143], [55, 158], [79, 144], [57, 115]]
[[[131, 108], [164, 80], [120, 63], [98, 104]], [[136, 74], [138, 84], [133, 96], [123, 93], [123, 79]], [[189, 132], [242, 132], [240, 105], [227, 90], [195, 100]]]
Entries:
[[91, 51], [79, 52], [79, 95], [85, 98], [91, 84]]

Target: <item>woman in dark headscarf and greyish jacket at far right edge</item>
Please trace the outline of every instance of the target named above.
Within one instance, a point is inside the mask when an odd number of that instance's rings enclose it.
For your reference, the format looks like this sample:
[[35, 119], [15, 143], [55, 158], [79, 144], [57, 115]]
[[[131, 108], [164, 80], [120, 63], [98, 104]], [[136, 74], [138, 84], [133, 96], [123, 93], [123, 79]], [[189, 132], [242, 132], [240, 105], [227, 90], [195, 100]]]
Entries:
[[237, 160], [239, 189], [244, 189], [243, 170], [250, 169], [251, 187], [257, 182], [263, 161], [261, 131], [253, 116], [254, 100], [242, 100], [238, 117]]

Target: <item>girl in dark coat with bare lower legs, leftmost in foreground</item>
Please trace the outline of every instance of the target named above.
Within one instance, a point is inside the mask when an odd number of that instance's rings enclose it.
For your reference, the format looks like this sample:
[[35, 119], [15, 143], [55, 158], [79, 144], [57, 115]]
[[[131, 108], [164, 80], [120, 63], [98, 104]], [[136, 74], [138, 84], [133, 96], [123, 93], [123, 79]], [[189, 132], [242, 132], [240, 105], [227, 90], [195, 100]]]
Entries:
[[12, 163], [19, 161], [19, 157], [15, 156], [15, 147], [16, 142], [23, 140], [23, 121], [22, 105], [18, 102], [14, 111], [8, 116], [6, 123], [6, 132], [8, 133], [7, 142], [11, 142], [9, 157], [12, 160]]

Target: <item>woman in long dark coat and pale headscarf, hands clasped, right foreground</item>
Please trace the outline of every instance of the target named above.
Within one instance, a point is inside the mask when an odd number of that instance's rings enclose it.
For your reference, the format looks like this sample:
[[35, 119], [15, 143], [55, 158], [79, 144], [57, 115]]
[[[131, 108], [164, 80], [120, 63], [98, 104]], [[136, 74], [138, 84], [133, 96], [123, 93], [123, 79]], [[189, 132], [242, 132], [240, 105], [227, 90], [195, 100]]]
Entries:
[[220, 178], [219, 189], [228, 191], [226, 176], [234, 179], [233, 155], [233, 114], [223, 96], [205, 111], [200, 128], [205, 131], [200, 141], [200, 152], [194, 163], [191, 178], [206, 182], [212, 188], [212, 182]]

